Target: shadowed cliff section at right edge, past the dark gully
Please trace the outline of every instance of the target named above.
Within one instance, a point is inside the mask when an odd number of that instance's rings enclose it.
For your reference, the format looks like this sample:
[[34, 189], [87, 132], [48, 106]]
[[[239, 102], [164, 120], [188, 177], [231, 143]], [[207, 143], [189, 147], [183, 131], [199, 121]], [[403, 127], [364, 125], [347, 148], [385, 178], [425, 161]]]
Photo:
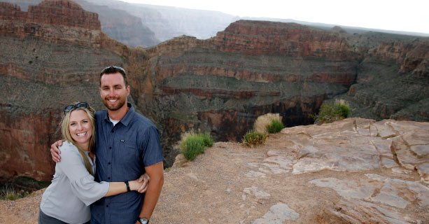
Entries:
[[[429, 39], [365, 34], [366, 44], [356, 83], [343, 96], [353, 114], [375, 119], [428, 120]], [[360, 39], [362, 40], [362, 39]], [[360, 43], [353, 39], [357, 47]]]

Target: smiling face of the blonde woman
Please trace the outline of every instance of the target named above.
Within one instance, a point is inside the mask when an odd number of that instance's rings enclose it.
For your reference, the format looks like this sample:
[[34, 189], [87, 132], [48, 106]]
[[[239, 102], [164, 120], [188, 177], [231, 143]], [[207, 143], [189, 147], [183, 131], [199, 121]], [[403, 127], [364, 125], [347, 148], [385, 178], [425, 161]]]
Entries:
[[84, 110], [74, 110], [70, 114], [69, 130], [71, 138], [76, 143], [87, 150], [90, 146], [90, 139], [92, 137], [93, 128], [91, 120]]

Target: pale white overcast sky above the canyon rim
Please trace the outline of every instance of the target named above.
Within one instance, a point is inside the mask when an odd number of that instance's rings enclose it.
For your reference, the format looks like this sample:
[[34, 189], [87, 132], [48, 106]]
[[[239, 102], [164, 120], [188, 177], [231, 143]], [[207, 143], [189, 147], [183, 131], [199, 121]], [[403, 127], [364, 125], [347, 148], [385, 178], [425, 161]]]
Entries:
[[429, 34], [428, 0], [121, 0], [157, 6]]

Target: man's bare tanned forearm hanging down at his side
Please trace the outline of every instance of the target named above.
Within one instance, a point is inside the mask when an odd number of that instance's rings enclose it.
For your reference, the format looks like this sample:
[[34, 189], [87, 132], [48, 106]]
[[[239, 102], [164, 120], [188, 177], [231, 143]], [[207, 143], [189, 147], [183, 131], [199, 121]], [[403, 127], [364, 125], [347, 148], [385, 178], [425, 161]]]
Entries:
[[[164, 185], [164, 164], [158, 162], [145, 167], [145, 170], [150, 177], [150, 181], [139, 217], [149, 219], [152, 216], [153, 209], [155, 209], [158, 197], [160, 197], [162, 185]], [[139, 221], [136, 221], [136, 223], [139, 223]]]

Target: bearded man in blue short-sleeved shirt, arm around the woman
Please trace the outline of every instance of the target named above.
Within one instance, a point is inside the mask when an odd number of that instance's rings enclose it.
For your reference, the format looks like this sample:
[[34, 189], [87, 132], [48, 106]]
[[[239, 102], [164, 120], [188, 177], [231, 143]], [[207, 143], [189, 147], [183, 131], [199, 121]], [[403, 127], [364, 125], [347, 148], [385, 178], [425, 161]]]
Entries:
[[[135, 191], [104, 197], [91, 205], [92, 223], [143, 223], [152, 216], [164, 183], [159, 133], [148, 118], [127, 102], [129, 85], [124, 69], [108, 66], [100, 73], [100, 96], [106, 110], [98, 111], [96, 181], [130, 181], [146, 172], [146, 194]], [[59, 143], [52, 144], [52, 160], [59, 162]], [[144, 170], [143, 170], [144, 169]]]

